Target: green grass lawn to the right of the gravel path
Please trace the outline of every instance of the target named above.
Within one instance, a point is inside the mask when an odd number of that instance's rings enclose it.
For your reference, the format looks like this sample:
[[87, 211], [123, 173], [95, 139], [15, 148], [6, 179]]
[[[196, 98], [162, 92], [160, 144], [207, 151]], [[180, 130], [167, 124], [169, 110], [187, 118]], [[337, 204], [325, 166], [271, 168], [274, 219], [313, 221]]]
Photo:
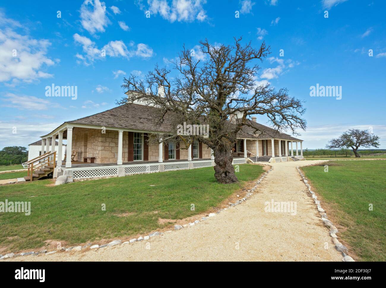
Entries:
[[301, 170], [322, 197], [327, 216], [345, 227], [338, 233], [339, 239], [363, 261], [386, 261], [386, 161], [327, 164], [328, 172], [323, 166]]

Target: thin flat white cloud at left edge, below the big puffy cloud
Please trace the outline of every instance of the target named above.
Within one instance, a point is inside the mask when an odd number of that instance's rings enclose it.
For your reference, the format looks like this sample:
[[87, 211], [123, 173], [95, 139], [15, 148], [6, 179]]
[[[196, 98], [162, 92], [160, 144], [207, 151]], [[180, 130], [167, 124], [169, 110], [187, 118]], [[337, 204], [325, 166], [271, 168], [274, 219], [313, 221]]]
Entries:
[[2, 101], [5, 103], [3, 107], [17, 108], [22, 110], [47, 110], [48, 108], [58, 107], [57, 104], [52, 104], [51, 101], [47, 99], [37, 98], [35, 96], [29, 95], [16, 95], [14, 93], [5, 94], [5, 98], [2, 98]]

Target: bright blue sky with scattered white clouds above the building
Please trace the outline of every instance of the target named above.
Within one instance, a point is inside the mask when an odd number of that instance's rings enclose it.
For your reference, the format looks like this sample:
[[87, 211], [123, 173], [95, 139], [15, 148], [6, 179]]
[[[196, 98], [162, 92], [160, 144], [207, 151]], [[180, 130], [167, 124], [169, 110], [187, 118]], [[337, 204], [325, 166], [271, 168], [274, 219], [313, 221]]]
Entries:
[[[385, 8], [381, 0], [2, 3], [0, 148], [27, 146], [64, 121], [113, 108], [125, 75], [169, 65], [183, 44], [232, 44], [239, 36], [271, 46], [257, 81], [306, 101], [303, 148], [370, 127], [386, 148]], [[342, 86], [342, 99], [311, 97], [317, 83]], [[52, 84], [77, 86], [77, 99], [46, 97]]]

